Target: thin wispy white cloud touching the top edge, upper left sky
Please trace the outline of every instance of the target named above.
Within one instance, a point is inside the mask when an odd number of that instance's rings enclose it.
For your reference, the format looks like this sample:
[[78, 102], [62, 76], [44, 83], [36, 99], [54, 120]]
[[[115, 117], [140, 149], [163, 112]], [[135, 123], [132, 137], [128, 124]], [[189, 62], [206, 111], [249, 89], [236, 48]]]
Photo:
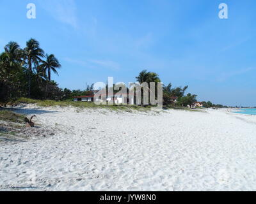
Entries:
[[76, 3], [74, 0], [44, 0], [39, 1], [39, 3], [53, 18], [77, 29]]

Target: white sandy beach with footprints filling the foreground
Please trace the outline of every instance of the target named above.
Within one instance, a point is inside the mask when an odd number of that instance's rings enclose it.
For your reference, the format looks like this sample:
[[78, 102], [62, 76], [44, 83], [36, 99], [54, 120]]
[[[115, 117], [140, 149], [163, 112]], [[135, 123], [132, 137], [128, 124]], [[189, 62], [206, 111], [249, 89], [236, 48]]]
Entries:
[[56, 134], [0, 143], [1, 191], [256, 190], [256, 116], [34, 105], [19, 112]]

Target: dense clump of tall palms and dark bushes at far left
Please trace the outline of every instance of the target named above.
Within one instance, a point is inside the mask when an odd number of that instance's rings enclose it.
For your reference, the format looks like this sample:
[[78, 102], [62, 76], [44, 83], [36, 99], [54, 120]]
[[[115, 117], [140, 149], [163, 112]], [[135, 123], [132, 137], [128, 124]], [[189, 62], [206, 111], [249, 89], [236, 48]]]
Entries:
[[54, 54], [45, 54], [40, 44], [31, 38], [25, 48], [10, 41], [0, 54], [0, 100], [20, 97], [55, 99], [62, 91], [51, 80], [61, 64]]

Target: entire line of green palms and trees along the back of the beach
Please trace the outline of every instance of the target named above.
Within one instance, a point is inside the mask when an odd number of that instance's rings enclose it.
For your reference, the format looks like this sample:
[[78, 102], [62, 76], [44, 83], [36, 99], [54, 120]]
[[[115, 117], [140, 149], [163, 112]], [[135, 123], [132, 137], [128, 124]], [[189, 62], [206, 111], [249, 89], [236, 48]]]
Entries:
[[[0, 54], [0, 102], [13, 101], [17, 98], [33, 99], [72, 99], [74, 96], [93, 94], [93, 84], [86, 84], [84, 90], [61, 89], [51, 78], [52, 73], [58, 75], [61, 64], [54, 54], [45, 54], [40, 43], [31, 38], [26, 42], [26, 47], [10, 41]], [[136, 81], [161, 82], [157, 73], [141, 71]], [[157, 90], [157, 89], [156, 89]], [[184, 87], [172, 87], [172, 83], [163, 85], [163, 105], [187, 106], [196, 102], [195, 94], [185, 94], [188, 85]], [[143, 89], [141, 90], [143, 94]], [[157, 93], [156, 93], [157, 97]], [[173, 103], [173, 97], [177, 97], [177, 103]], [[204, 107], [225, 107], [214, 105], [210, 101], [203, 102]]]

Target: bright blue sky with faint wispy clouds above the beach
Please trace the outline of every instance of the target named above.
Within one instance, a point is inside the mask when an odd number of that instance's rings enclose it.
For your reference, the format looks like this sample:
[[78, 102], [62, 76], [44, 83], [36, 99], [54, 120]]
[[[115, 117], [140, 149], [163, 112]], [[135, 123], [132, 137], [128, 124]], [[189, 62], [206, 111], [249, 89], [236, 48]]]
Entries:
[[[36, 18], [27, 18], [27, 4]], [[219, 4], [228, 18], [219, 18]], [[156, 72], [198, 101], [256, 106], [255, 0], [0, 0], [0, 52], [35, 38], [61, 63], [61, 88]]]

